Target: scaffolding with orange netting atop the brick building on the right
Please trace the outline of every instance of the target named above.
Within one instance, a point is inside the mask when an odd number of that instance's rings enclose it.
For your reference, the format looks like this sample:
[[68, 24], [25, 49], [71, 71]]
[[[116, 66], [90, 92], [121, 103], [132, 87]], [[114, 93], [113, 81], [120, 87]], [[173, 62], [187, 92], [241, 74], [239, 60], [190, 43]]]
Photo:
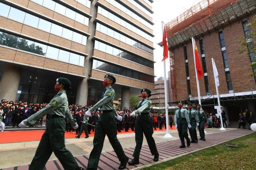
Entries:
[[256, 11], [256, 0], [202, 0], [166, 24], [169, 48], [242, 19]]

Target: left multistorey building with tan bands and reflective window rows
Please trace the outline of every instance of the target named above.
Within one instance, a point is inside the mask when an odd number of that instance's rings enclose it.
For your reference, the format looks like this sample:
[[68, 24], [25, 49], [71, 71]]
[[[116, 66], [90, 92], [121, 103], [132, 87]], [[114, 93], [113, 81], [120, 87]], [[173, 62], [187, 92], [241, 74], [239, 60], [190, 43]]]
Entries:
[[94, 104], [105, 74], [129, 107], [154, 89], [152, 0], [0, 1], [0, 98], [48, 102], [56, 78], [71, 103]]

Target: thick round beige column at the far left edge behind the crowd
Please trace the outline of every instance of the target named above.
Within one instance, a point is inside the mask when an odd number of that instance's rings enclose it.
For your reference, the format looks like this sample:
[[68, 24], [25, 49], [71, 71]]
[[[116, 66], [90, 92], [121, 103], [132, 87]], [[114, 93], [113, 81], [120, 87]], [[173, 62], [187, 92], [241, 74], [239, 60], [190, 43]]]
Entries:
[[0, 80], [0, 98], [15, 101], [20, 84], [20, 68], [6, 65]]

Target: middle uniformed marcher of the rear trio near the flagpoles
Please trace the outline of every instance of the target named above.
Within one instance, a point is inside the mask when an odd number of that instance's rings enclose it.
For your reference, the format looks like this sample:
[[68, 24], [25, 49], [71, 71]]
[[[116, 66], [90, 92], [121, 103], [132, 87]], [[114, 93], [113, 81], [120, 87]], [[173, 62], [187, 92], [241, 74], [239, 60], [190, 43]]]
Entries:
[[199, 119], [198, 114], [196, 113], [196, 110], [192, 108], [191, 103], [188, 104], [188, 118], [190, 120], [190, 125], [192, 126], [190, 129], [188, 129], [191, 137], [191, 143], [198, 143], [196, 127], [199, 125]]

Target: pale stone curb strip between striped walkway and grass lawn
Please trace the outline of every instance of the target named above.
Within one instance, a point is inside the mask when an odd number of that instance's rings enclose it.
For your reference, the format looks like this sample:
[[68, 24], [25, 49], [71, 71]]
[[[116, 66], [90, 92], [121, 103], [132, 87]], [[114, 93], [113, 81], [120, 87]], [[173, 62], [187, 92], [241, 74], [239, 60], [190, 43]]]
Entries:
[[[252, 131], [251, 133], [248, 133], [248, 134], [246, 134], [246, 135], [242, 135], [242, 136], [240, 136], [240, 137], [244, 137], [244, 136], [250, 135], [250, 134], [252, 134], [252, 133], [255, 133], [255, 132]], [[166, 161], [168, 161], [168, 160], [172, 160], [172, 159], [175, 159], [175, 158], [179, 158], [179, 157], [184, 156], [184, 155], [187, 155], [187, 154], [191, 154], [191, 153], [194, 153], [194, 152], [203, 150], [203, 149], [207, 149], [207, 148], [210, 148], [210, 147], [214, 147], [214, 146], [216, 146], [216, 145], [220, 145], [220, 144], [222, 144], [222, 143], [225, 143], [225, 142], [228, 142], [228, 141], [231, 141], [231, 140], [233, 140], [233, 139], [240, 138], [240, 137], [235, 137], [235, 138], [232, 138], [232, 139], [229, 139], [229, 140], [220, 142], [220, 143], [216, 143], [216, 144], [214, 144], [214, 145], [210, 145], [210, 146], [207, 146], [207, 147], [204, 147], [204, 148], [200, 148], [200, 149], [196, 149], [196, 150], [191, 150], [191, 151], [189, 151], [189, 152], [186, 152], [186, 153], [183, 153], [183, 154], [179, 154], [179, 155], [173, 156], [173, 157], [171, 157], [171, 158], [166, 158], [166, 159], [160, 160], [160, 161], [158, 161], [158, 162], [153, 162], [153, 163], [146, 164], [146, 165], [143, 165], [143, 166], [140, 166], [140, 167], [137, 167], [137, 168], [133, 168], [133, 169], [131, 169], [131, 170], [140, 170], [140, 169], [143, 169], [143, 168], [147, 168], [147, 167], [150, 167], [150, 166], [153, 166], [153, 165], [156, 165], [156, 164], [160, 164], [160, 163], [162, 163], [162, 162], [166, 162]]]

